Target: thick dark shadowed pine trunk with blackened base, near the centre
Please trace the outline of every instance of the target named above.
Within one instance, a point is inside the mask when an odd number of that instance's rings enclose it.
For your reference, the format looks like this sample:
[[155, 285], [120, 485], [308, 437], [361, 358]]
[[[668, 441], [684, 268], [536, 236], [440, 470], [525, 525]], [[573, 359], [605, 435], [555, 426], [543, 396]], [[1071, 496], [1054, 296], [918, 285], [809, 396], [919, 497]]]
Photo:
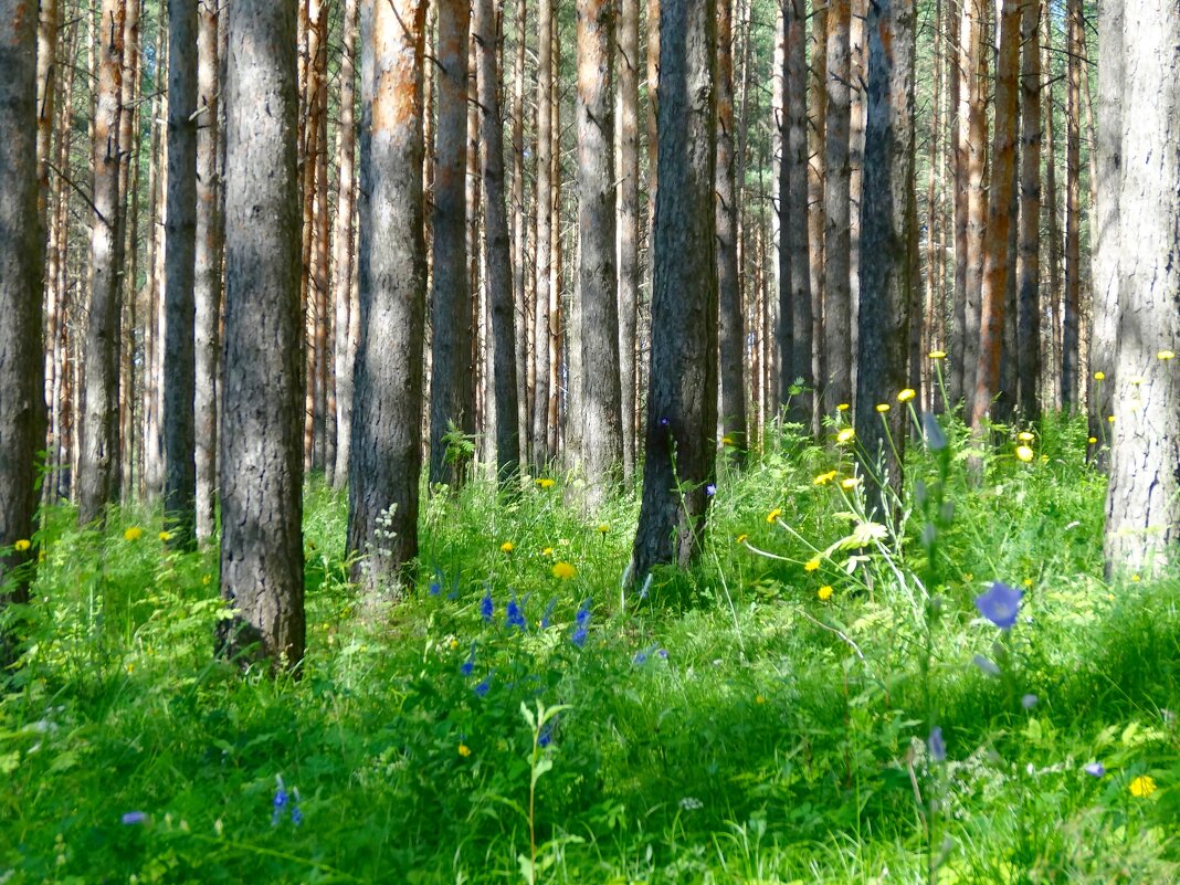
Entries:
[[656, 198], [651, 381], [643, 500], [631, 553], [651, 568], [703, 548], [716, 454], [714, 148], [716, 4], [666, 4], [660, 20], [660, 192]]

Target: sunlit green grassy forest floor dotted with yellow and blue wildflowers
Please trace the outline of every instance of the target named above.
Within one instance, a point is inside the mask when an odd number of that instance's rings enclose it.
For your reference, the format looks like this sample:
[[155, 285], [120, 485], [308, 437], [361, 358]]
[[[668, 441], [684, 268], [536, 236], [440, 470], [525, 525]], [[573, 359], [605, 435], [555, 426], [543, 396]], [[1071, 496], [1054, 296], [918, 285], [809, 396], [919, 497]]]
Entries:
[[424, 504], [379, 617], [312, 481], [297, 682], [214, 660], [216, 551], [53, 510], [0, 686], [0, 883], [1180, 881], [1180, 581], [1103, 581], [1081, 424], [1028, 463], [1009, 433], [981, 483], [948, 437], [911, 441], [890, 525], [854, 441], [727, 457], [701, 564], [643, 592], [634, 497], [474, 483]]

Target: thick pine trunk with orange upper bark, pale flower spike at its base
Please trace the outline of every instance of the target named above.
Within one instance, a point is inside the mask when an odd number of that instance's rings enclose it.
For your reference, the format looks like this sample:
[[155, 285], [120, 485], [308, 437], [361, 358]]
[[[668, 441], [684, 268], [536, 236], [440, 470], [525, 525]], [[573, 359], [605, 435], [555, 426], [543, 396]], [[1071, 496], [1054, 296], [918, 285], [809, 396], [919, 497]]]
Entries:
[[[361, 83], [368, 79], [365, 70], [372, 65], [375, 91], [372, 111], [363, 112], [372, 114], [372, 144], [368, 150], [361, 145], [361, 217], [371, 221], [362, 222], [359, 232], [361, 337], [348, 473], [348, 549], [366, 555], [354, 566], [353, 578], [362, 581], [371, 596], [381, 596], [411, 578], [408, 564], [418, 556], [426, 316], [426, 2], [376, 4], [372, 13], [366, 6], [361, 7]], [[373, 17], [371, 44], [365, 39], [368, 14]], [[464, 40], [464, 59], [466, 48]], [[367, 53], [372, 53], [372, 61], [365, 59]], [[362, 85], [362, 103], [365, 88]], [[460, 137], [465, 142], [465, 110], [463, 119]], [[372, 205], [366, 210], [368, 201]]]

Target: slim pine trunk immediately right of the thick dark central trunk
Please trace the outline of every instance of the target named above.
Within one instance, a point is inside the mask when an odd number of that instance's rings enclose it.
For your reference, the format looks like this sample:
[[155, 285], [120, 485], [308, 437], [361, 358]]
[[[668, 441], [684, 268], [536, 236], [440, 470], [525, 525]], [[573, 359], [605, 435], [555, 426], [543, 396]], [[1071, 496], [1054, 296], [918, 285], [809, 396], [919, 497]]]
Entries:
[[[717, 0], [717, 291], [721, 337], [721, 432], [738, 466], [746, 463], [746, 385], [742, 359], [746, 329], [738, 276], [738, 201], [734, 170], [733, 0]], [[789, 322], [789, 314], [787, 315]], [[780, 327], [781, 329], [781, 327]], [[789, 362], [789, 336], [780, 330], [780, 353]], [[780, 358], [782, 360], [782, 358]]]

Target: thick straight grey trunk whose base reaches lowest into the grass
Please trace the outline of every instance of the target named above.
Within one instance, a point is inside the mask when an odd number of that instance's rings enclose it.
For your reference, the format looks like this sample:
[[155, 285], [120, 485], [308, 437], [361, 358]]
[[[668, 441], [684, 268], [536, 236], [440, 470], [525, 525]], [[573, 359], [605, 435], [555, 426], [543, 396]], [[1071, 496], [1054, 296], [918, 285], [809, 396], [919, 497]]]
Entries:
[[[303, 660], [299, 91], [294, 4], [235, 0], [225, 101], [219, 654]], [[191, 50], [190, 50], [191, 52]]]

